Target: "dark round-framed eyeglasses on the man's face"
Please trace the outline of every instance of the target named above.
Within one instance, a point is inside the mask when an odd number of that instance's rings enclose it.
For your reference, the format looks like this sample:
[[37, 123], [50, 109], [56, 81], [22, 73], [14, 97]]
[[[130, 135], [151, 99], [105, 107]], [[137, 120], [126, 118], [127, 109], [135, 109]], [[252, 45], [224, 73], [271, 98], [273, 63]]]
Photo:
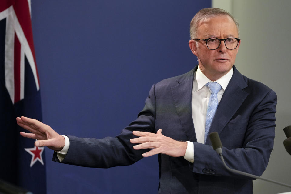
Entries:
[[239, 38], [226, 38], [226, 39], [218, 39], [218, 38], [207, 38], [207, 39], [193, 39], [193, 40], [204, 40], [206, 41], [207, 48], [210, 50], [215, 50], [220, 46], [221, 41], [224, 41], [226, 48], [233, 50], [239, 45]]

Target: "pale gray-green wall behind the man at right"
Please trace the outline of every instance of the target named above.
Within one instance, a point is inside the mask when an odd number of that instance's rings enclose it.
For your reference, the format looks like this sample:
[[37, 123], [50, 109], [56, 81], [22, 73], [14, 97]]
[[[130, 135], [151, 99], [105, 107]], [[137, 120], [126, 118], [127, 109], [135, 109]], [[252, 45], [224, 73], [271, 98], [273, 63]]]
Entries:
[[[283, 146], [283, 128], [291, 125], [291, 1], [212, 0], [212, 7], [226, 9], [239, 22], [242, 42], [235, 62], [237, 69], [277, 94], [274, 149], [262, 177], [291, 185], [291, 156]], [[291, 189], [256, 180], [253, 191], [274, 194]]]

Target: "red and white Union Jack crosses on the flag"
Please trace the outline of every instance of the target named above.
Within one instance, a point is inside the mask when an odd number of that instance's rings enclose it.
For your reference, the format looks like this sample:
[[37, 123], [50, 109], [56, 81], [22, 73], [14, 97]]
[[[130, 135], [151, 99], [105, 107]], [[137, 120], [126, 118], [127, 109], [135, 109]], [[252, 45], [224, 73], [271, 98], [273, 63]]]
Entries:
[[[25, 7], [28, 8], [26, 12]], [[39, 90], [30, 20], [30, 5], [27, 0], [2, 0], [0, 8], [0, 21], [4, 20], [3, 22], [6, 23], [5, 85], [12, 103], [15, 103], [24, 99], [25, 58], [32, 69], [36, 89], [37, 91]]]

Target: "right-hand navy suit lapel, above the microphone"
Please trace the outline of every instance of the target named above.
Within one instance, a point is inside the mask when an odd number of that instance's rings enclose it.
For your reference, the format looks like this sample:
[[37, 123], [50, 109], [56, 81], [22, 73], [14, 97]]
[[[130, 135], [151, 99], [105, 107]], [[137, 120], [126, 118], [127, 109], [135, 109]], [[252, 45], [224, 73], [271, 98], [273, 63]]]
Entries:
[[[230, 121], [232, 116], [236, 113], [239, 107], [246, 99], [248, 93], [243, 91], [247, 84], [243, 76], [233, 66], [233, 75], [226, 87], [226, 90], [219, 102], [215, 116], [212, 120], [209, 133], [218, 132], [224, 129], [226, 124]], [[211, 145], [210, 139], [207, 138], [206, 144]]]

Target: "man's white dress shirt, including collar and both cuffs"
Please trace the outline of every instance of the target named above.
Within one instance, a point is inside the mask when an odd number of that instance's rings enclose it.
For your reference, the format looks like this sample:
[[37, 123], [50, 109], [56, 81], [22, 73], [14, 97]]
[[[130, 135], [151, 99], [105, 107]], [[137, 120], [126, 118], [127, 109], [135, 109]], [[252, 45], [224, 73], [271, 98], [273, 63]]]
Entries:
[[[220, 91], [217, 93], [218, 103], [232, 77], [233, 69], [231, 69], [226, 75], [222, 76], [215, 82], [221, 85]], [[205, 121], [207, 112], [207, 103], [210, 98], [210, 90], [205, 84], [212, 82], [208, 79], [198, 67], [197, 71], [194, 73], [194, 83], [192, 89], [192, 119], [195, 128], [196, 139], [198, 143], [204, 144], [204, 134], [205, 134]], [[65, 138], [64, 148], [57, 152], [58, 159], [62, 161], [68, 152], [70, 141], [69, 138], [63, 135]], [[193, 142], [187, 141], [187, 149], [184, 158], [189, 162], [194, 162], [194, 144]]]

